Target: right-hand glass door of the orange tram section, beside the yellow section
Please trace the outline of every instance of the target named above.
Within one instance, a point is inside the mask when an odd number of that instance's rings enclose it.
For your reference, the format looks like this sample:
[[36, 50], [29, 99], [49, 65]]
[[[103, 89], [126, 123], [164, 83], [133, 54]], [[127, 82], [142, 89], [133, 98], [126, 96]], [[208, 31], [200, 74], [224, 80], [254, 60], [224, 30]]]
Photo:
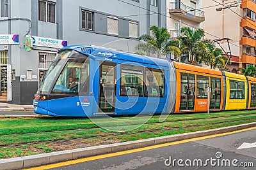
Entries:
[[221, 102], [221, 79], [211, 77], [211, 101], [210, 109], [220, 109]]

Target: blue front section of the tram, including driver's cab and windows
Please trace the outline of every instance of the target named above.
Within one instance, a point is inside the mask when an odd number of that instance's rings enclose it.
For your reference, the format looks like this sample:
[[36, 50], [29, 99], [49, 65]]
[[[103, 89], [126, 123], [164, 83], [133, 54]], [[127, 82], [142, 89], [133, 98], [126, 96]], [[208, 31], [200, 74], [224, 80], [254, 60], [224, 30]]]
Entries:
[[67, 46], [45, 73], [34, 111], [63, 117], [171, 113], [173, 72], [163, 59], [99, 46]]

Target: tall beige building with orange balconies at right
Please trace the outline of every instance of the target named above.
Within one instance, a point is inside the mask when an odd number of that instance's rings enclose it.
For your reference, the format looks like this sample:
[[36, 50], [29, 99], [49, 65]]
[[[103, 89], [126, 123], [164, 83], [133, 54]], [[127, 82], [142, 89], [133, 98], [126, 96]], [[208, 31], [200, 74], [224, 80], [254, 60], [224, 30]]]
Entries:
[[230, 49], [227, 41], [219, 41], [223, 51], [231, 56], [230, 71], [237, 73], [239, 67], [255, 65], [255, 0], [211, 0], [204, 1], [203, 7], [205, 38], [230, 39]]

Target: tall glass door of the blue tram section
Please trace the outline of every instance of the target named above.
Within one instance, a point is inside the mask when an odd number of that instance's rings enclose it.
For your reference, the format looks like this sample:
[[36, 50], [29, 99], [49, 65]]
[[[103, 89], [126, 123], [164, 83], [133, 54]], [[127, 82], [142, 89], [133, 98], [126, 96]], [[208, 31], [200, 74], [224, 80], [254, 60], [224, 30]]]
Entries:
[[115, 112], [116, 64], [103, 62], [100, 66], [99, 112]]

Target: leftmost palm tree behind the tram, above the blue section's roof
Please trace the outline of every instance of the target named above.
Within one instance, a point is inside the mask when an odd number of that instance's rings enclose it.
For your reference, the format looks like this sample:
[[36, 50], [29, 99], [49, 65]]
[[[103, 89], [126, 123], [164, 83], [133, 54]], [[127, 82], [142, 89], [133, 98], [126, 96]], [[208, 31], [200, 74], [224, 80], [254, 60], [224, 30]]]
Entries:
[[[176, 56], [180, 55], [180, 50], [178, 46], [173, 45], [170, 41], [170, 33], [166, 27], [158, 28], [156, 25], [150, 26], [150, 31], [152, 31], [152, 36], [148, 34], [143, 34], [140, 36], [140, 40], [147, 42], [147, 44], [140, 43], [135, 47], [136, 50], [143, 50], [144, 52], [156, 53], [159, 58], [161, 54], [173, 53]], [[152, 48], [152, 46], [154, 48]]]

